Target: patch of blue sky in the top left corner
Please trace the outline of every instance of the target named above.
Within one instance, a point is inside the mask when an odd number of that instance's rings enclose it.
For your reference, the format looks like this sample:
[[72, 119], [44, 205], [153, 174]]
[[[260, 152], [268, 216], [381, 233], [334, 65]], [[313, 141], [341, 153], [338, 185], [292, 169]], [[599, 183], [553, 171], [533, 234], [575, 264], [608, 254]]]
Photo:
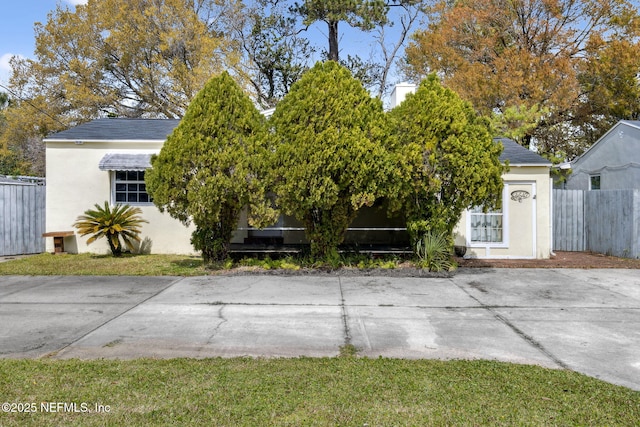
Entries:
[[33, 24], [47, 22], [47, 14], [62, 7], [75, 7], [87, 0], [17, 0], [3, 1], [0, 6], [0, 84], [9, 79], [12, 55], [32, 57], [35, 48]]

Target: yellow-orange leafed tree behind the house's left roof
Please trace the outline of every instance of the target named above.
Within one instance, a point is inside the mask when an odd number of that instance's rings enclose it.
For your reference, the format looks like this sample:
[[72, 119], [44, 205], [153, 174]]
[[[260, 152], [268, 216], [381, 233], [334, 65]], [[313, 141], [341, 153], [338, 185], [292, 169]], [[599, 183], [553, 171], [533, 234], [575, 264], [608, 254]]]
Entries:
[[[35, 58], [12, 59], [0, 146], [42, 176], [42, 138], [101, 115], [180, 118], [240, 60], [225, 32], [239, 1], [89, 0], [35, 24]], [[0, 158], [3, 157], [0, 152]]]

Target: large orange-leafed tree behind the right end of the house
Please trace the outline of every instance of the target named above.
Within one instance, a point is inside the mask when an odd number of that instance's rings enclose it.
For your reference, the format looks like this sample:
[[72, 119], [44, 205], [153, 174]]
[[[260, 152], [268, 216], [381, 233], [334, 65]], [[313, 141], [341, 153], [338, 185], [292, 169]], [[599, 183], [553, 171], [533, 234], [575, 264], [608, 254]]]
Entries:
[[[640, 112], [638, 19], [625, 0], [443, 1], [406, 49], [406, 72], [438, 73], [504, 127], [508, 109], [530, 113], [519, 142], [571, 159], [606, 131], [597, 118]], [[624, 108], [611, 108], [620, 97]]]

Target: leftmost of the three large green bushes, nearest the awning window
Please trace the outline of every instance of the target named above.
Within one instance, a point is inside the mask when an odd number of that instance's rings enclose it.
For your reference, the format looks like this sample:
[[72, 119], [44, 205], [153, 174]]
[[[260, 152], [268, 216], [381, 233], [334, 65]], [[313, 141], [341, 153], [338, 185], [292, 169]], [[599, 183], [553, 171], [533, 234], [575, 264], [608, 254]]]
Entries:
[[195, 249], [205, 262], [227, 257], [241, 210], [250, 223], [275, 221], [262, 174], [265, 120], [228, 73], [212, 78], [189, 105], [146, 173], [161, 211], [196, 226]]

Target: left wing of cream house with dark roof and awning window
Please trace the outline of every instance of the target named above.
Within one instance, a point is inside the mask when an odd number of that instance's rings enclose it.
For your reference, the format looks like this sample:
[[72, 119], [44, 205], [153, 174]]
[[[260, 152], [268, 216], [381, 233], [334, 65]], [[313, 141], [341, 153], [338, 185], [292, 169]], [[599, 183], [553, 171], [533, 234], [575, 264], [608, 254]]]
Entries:
[[[193, 254], [190, 229], [149, 200], [144, 171], [159, 153], [179, 120], [98, 119], [44, 140], [47, 158], [47, 231], [73, 230], [73, 223], [87, 209], [105, 200], [139, 206], [153, 253]], [[48, 239], [49, 240], [49, 239]], [[106, 240], [90, 246], [88, 237], [64, 237], [66, 252], [109, 251]], [[47, 251], [53, 252], [47, 241]]]

